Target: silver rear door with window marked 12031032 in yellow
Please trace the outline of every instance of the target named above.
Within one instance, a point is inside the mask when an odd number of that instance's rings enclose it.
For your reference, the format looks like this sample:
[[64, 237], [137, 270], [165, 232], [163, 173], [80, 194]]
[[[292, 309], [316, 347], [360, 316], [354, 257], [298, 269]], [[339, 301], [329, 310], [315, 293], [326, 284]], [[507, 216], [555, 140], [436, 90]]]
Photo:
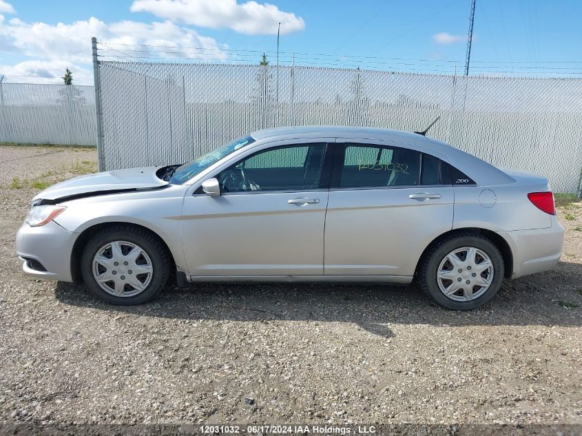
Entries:
[[410, 147], [337, 139], [325, 275], [413, 276], [422, 251], [452, 228], [453, 187], [441, 160]]

